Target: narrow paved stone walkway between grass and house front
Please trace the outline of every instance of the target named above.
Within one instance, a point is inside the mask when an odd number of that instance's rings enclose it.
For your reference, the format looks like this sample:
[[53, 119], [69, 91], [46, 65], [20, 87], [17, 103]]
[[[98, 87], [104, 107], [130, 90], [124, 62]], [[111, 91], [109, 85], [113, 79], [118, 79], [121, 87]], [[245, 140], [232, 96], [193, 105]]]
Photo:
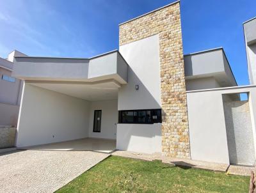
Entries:
[[250, 176], [252, 170], [255, 170], [255, 167], [244, 167], [244, 166], [229, 166], [229, 164], [218, 164], [213, 162], [202, 162], [196, 160], [188, 160], [181, 158], [170, 158], [163, 157], [161, 153], [147, 154], [147, 153], [136, 153], [132, 151], [115, 151], [112, 155], [137, 158], [141, 160], [162, 160], [166, 164], [172, 164], [173, 166], [183, 166], [183, 167], [194, 167], [200, 169], [209, 169], [212, 171], [222, 171], [228, 172], [228, 174], [237, 174], [242, 176]]

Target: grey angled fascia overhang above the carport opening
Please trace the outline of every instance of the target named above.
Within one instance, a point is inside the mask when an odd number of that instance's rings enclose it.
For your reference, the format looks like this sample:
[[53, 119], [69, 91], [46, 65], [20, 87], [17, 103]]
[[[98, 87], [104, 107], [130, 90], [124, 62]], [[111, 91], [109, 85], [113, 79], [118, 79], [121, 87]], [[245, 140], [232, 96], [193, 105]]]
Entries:
[[127, 83], [128, 64], [114, 50], [93, 58], [15, 57], [12, 76], [30, 81], [94, 82], [113, 79]]

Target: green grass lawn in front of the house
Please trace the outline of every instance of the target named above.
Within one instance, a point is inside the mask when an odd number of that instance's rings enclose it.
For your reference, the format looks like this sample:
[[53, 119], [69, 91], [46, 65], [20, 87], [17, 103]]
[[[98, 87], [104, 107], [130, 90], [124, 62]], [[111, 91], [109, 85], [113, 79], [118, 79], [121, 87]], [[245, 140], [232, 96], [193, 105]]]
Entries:
[[111, 156], [57, 192], [248, 192], [250, 178]]

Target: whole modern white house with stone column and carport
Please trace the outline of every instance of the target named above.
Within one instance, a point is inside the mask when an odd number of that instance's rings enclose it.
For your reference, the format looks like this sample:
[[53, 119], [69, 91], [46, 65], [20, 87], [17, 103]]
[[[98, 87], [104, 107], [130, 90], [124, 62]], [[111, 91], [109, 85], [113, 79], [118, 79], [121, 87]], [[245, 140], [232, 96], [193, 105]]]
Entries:
[[17, 147], [97, 137], [118, 150], [253, 165], [256, 86], [237, 86], [222, 48], [184, 56], [179, 1], [119, 27], [119, 51], [14, 57], [12, 75], [25, 81]]

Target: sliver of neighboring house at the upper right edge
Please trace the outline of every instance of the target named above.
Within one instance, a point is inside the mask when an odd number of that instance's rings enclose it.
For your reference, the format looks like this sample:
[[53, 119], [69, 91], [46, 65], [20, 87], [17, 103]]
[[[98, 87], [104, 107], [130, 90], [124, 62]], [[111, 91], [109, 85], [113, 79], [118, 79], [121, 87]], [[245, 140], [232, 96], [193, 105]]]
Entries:
[[256, 17], [243, 26], [250, 84], [256, 84]]

